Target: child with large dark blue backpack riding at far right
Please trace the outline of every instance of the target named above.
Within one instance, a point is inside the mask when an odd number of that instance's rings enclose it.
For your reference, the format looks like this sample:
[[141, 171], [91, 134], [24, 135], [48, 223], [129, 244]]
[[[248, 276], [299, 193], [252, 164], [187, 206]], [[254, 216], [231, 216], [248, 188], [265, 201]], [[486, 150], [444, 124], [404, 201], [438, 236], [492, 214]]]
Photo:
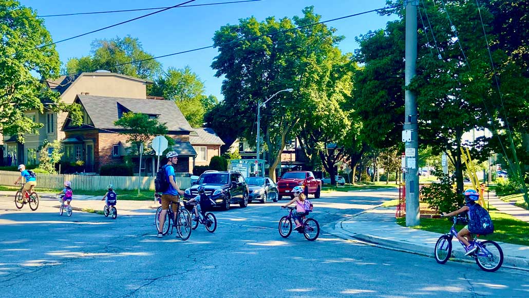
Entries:
[[479, 200], [479, 195], [474, 189], [468, 189], [463, 195], [465, 196], [466, 205], [448, 214], [443, 212], [441, 216], [454, 216], [468, 212], [469, 222], [457, 234], [457, 238], [463, 242], [467, 250], [465, 256], [468, 256], [477, 249], [473, 243], [470, 243], [470, 241], [473, 241], [472, 234], [490, 234], [494, 232], [494, 225], [487, 210], [476, 203]]

